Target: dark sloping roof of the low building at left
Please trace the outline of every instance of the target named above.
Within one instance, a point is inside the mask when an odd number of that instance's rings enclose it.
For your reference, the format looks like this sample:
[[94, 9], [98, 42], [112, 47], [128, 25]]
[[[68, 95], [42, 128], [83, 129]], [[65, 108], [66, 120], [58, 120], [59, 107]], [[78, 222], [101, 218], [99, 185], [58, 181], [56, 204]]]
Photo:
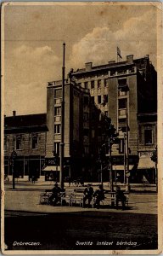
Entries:
[[27, 114], [4, 118], [4, 132], [48, 131], [47, 114]]

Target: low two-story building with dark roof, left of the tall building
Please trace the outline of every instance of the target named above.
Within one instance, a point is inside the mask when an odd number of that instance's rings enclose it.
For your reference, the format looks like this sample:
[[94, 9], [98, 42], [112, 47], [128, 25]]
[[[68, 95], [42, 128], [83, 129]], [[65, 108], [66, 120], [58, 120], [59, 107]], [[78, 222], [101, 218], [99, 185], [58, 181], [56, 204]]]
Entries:
[[[29, 180], [32, 176], [43, 177], [47, 140], [46, 113], [16, 115], [4, 118], [4, 173], [12, 176], [11, 154], [15, 177]], [[12, 179], [12, 178], [11, 178]]]

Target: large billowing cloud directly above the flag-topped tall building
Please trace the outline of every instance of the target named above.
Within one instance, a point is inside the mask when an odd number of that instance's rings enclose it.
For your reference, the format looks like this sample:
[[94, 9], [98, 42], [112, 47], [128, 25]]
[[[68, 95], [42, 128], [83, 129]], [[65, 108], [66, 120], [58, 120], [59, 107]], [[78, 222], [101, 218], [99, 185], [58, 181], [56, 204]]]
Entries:
[[96, 27], [87, 33], [72, 47], [71, 66], [83, 67], [87, 61], [94, 65], [116, 60], [116, 47], [121, 49], [123, 60], [126, 55], [133, 54], [135, 58], [149, 55], [156, 64], [156, 15], [153, 11], [141, 17], [134, 17], [123, 24], [118, 31], [112, 32], [110, 27]]

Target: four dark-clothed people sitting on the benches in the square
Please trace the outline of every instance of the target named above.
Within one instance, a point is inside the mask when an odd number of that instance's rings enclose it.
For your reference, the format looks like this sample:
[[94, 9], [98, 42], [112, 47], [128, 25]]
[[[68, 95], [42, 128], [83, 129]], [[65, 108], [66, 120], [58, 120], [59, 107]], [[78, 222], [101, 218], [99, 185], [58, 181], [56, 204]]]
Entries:
[[[52, 195], [49, 198], [49, 204], [55, 206], [57, 202], [60, 199], [60, 193], [64, 192], [63, 189], [59, 188], [58, 183], [54, 184], [54, 187], [52, 189]], [[84, 189], [84, 196], [83, 196], [83, 207], [86, 207], [86, 201], [87, 201], [87, 207], [91, 207], [91, 201], [94, 198], [93, 204], [94, 207], [99, 208], [100, 201], [104, 201], [104, 189], [103, 185], [99, 185], [99, 188], [94, 192], [93, 187], [90, 183], [87, 184], [87, 188]], [[121, 201], [122, 209], [125, 208], [125, 201], [126, 196], [124, 195], [121, 188], [118, 186], [116, 187], [115, 191], [115, 206], [118, 208], [119, 201]]]

